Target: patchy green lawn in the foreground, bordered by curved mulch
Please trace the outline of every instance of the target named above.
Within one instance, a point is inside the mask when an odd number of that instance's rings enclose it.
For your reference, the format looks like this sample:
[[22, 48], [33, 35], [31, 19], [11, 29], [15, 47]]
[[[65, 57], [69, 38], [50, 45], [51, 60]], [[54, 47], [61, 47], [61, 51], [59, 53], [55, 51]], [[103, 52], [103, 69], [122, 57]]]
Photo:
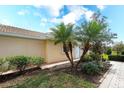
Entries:
[[86, 81], [78, 76], [59, 73], [40, 73], [29, 79], [24, 80], [21, 84], [16, 84], [16, 88], [93, 88], [95, 84]]

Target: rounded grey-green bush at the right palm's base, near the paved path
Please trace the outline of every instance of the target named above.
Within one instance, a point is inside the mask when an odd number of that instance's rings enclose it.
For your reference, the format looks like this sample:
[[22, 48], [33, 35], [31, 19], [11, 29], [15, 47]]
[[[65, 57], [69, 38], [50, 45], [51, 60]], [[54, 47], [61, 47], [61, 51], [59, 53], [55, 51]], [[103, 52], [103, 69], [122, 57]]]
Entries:
[[94, 62], [88, 62], [81, 65], [81, 70], [88, 75], [97, 75], [100, 73], [98, 64]]

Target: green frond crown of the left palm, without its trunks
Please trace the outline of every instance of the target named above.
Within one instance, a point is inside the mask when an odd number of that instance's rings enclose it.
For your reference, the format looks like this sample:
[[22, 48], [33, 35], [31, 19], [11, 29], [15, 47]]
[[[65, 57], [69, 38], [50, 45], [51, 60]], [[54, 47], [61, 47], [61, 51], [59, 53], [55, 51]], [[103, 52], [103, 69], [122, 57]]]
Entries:
[[60, 23], [55, 28], [51, 28], [55, 44], [72, 42], [74, 40], [73, 26], [73, 24]]

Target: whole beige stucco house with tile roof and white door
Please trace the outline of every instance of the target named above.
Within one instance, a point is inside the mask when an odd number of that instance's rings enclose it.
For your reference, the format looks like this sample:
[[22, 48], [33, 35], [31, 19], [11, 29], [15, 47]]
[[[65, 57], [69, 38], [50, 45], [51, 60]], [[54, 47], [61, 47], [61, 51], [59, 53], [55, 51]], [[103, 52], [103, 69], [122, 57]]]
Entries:
[[[0, 25], [0, 57], [26, 55], [41, 56], [45, 62], [67, 60], [62, 45], [54, 45], [47, 33]], [[74, 48], [74, 58], [79, 58], [80, 49]]]

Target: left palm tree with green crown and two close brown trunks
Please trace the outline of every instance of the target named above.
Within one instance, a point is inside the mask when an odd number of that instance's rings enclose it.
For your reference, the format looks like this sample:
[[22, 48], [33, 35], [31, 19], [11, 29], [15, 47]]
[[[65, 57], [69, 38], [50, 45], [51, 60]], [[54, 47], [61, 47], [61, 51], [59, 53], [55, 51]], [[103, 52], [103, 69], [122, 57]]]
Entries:
[[67, 56], [68, 60], [71, 63], [72, 68], [74, 67], [73, 63], [73, 43], [74, 40], [74, 33], [73, 33], [73, 24], [60, 23], [55, 28], [51, 28], [52, 35], [54, 37], [55, 44], [62, 43], [63, 44], [63, 51]]

